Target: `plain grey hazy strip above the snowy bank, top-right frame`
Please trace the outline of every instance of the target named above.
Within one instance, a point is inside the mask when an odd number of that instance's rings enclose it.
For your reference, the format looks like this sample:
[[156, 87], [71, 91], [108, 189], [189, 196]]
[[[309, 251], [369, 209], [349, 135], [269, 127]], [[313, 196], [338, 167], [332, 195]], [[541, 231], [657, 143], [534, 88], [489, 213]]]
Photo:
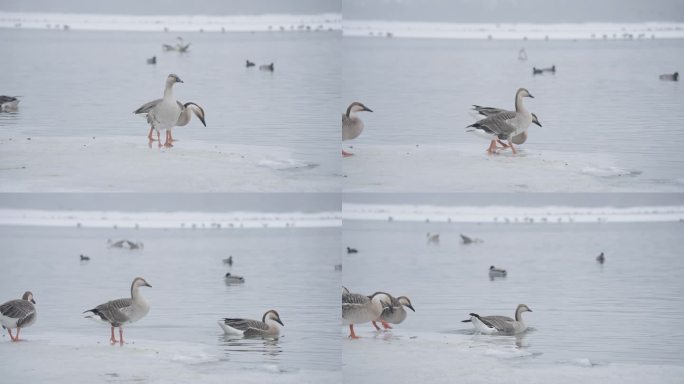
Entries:
[[683, 0], [342, 0], [344, 18], [443, 22], [684, 21]]

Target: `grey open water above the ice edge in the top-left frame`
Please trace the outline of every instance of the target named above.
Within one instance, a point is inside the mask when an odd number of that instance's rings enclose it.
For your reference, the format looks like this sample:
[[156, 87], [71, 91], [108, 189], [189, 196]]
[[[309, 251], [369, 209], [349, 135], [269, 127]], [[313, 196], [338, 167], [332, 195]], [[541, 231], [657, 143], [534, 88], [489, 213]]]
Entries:
[[[183, 139], [293, 147], [328, 159], [339, 147], [337, 32], [183, 33], [190, 52], [162, 52], [176, 33], [0, 30], [6, 53], [0, 93], [23, 96], [18, 113], [0, 114], [3, 130], [21, 135], [140, 135], [133, 111], [160, 98], [176, 73], [180, 101], [206, 111]], [[145, 59], [157, 56], [157, 65]], [[245, 60], [275, 63], [275, 72]], [[318, 151], [318, 152], [317, 152]], [[320, 152], [320, 153], [319, 153]]]

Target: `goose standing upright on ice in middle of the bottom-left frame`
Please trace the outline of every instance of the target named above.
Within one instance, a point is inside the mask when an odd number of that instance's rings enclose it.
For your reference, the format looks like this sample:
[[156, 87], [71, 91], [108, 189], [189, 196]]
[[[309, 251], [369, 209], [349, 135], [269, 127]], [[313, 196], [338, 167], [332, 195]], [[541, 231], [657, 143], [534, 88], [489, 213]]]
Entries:
[[112, 327], [112, 336], [109, 341], [112, 344], [117, 342], [114, 337], [114, 328], [119, 328], [119, 343], [123, 345], [123, 325], [134, 323], [147, 315], [150, 311], [150, 305], [145, 301], [145, 298], [140, 294], [140, 287], [152, 286], [142, 277], [136, 277], [131, 283], [131, 297], [124, 299], [111, 300], [104, 304], [100, 304], [93, 309], [84, 311], [83, 313], [91, 312], [91, 315], [85, 316], [87, 319], [101, 321], [108, 323]]

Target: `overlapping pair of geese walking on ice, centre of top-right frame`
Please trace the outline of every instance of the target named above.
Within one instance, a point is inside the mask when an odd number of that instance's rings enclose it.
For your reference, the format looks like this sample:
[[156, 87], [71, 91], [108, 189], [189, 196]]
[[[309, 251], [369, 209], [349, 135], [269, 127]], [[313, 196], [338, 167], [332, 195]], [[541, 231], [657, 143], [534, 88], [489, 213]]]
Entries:
[[[473, 105], [473, 110], [485, 118], [466, 127], [466, 131], [476, 133], [490, 140], [489, 148], [487, 149], [488, 154], [495, 153], [497, 142], [503, 145], [504, 148], [510, 146], [513, 153], [516, 153], [513, 144], [522, 144], [527, 140], [527, 128], [530, 124], [542, 126], [537, 115], [525, 109], [523, 105], [524, 97], [534, 99], [534, 96], [527, 89], [519, 88], [515, 93], [515, 112]], [[468, 129], [471, 127], [473, 129]], [[511, 127], [513, 128], [512, 131]], [[501, 140], [509, 140], [509, 144], [505, 144]]]

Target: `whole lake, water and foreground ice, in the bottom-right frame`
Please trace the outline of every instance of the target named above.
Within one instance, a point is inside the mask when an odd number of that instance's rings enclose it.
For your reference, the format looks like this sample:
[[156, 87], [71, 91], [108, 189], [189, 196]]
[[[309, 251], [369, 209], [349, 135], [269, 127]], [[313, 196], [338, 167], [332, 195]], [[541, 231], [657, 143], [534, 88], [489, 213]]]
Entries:
[[[346, 220], [344, 229], [343, 245], [359, 250], [343, 257], [344, 285], [406, 295], [416, 309], [390, 332], [356, 327], [362, 339], [343, 348], [346, 382], [676, 382], [684, 372], [681, 222]], [[427, 244], [427, 232], [441, 242]], [[460, 233], [484, 243], [463, 245]], [[508, 276], [490, 280], [490, 265]], [[534, 312], [518, 337], [461, 323], [470, 312], [513, 317], [519, 303]]]

